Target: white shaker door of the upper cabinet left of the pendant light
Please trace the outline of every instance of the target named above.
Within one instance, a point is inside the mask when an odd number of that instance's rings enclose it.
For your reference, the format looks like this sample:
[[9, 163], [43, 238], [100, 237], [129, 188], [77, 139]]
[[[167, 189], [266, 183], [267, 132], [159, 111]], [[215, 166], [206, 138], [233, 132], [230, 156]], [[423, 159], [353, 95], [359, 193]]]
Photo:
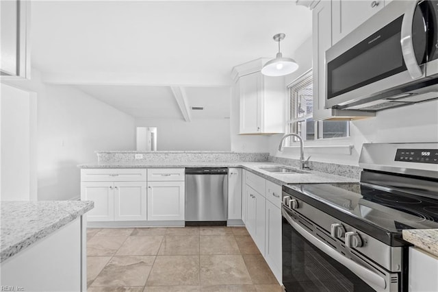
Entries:
[[261, 130], [260, 83], [259, 72], [240, 77], [240, 134], [257, 133]]

